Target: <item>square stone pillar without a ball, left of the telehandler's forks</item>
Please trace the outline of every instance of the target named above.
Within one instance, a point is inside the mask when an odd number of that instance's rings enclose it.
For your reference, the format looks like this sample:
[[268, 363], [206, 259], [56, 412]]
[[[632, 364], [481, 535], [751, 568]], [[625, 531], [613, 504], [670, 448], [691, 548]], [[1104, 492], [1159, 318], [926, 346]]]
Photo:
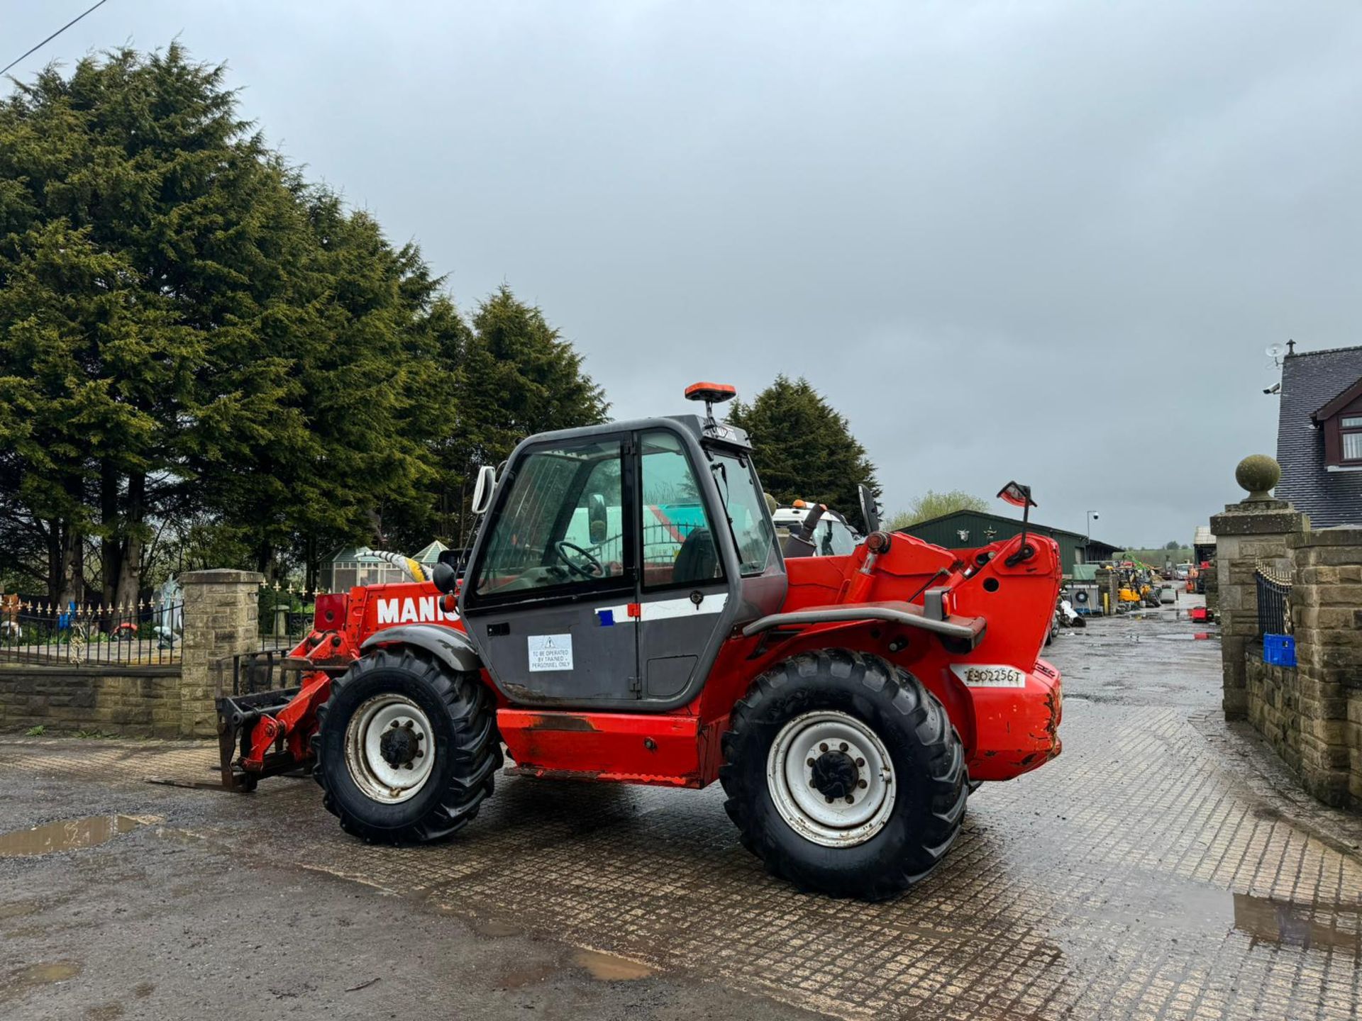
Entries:
[[217, 663], [259, 647], [260, 583], [253, 570], [191, 570], [184, 589], [184, 640], [180, 647], [180, 736], [218, 734]]

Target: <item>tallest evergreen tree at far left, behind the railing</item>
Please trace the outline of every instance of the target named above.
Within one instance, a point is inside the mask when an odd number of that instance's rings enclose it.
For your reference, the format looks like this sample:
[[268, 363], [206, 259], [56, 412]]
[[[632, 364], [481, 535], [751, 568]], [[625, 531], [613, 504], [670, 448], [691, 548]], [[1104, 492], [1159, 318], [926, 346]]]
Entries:
[[39, 408], [7, 467], [53, 596], [78, 595], [93, 534], [95, 596], [135, 600], [148, 517], [192, 498], [184, 459], [248, 442], [285, 385], [219, 354], [249, 344], [289, 263], [281, 174], [222, 68], [178, 45], [48, 68], [0, 108], [0, 374]]

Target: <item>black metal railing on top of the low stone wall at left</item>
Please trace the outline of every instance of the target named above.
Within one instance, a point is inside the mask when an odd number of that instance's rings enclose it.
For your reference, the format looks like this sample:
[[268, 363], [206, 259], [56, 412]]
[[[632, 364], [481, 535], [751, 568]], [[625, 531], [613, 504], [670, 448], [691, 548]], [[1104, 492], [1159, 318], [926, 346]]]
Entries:
[[184, 606], [5, 603], [0, 663], [38, 666], [168, 666], [180, 662]]

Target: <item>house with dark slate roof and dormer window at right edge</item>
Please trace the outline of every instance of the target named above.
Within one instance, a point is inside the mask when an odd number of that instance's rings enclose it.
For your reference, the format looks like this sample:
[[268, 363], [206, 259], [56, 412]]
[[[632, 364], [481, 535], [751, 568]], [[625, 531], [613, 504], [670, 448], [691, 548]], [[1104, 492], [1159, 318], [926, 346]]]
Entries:
[[1362, 524], [1362, 347], [1297, 351], [1282, 359], [1278, 500], [1310, 525]]

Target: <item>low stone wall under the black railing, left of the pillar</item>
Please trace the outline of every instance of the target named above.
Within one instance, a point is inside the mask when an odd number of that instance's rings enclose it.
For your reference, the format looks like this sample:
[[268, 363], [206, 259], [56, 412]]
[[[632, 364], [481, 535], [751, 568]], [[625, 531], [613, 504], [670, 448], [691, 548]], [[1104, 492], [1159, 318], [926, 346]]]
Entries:
[[180, 736], [180, 667], [0, 670], [0, 730]]

